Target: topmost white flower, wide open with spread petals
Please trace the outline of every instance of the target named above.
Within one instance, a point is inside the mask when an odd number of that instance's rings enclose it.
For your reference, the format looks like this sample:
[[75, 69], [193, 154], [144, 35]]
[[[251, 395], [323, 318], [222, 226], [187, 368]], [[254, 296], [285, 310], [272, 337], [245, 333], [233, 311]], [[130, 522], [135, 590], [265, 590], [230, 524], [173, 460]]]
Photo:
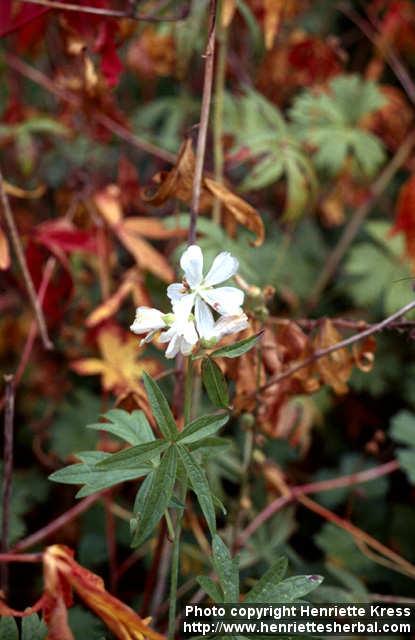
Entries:
[[244, 293], [236, 287], [217, 287], [238, 270], [239, 263], [228, 251], [223, 251], [213, 261], [207, 275], [203, 277], [203, 254], [198, 245], [191, 245], [183, 253], [180, 266], [184, 271], [184, 282], [175, 282], [167, 288], [177, 317], [186, 320], [195, 308], [196, 327], [201, 337], [209, 333], [214, 325], [210, 307], [222, 316], [240, 316]]

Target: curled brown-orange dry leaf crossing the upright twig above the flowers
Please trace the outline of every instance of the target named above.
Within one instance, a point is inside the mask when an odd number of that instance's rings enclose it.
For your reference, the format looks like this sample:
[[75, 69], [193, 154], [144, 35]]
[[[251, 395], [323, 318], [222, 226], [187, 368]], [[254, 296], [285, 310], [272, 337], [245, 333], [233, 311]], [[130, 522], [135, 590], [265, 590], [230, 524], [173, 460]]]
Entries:
[[[169, 198], [177, 198], [189, 203], [192, 199], [195, 156], [192, 141], [188, 138], [181, 146], [175, 166], [168, 172], [162, 172], [154, 177], [159, 184], [152, 193], [144, 194], [144, 199], [154, 206], [164, 204]], [[256, 235], [255, 246], [263, 243], [265, 237], [264, 223], [259, 213], [248, 202], [230, 191], [225, 185], [203, 176], [202, 193], [200, 199], [201, 210], [212, 207], [217, 199], [232, 220], [246, 227]]]

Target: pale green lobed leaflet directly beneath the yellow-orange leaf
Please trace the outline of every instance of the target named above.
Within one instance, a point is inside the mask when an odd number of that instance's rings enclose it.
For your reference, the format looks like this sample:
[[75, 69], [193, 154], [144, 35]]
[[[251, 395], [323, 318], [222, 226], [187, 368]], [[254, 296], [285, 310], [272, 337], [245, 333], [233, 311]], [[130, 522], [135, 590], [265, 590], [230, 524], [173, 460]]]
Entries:
[[128, 413], [122, 409], [111, 409], [103, 414], [108, 422], [95, 422], [87, 425], [88, 429], [106, 431], [129, 444], [138, 445], [154, 440], [153, 430], [143, 411]]

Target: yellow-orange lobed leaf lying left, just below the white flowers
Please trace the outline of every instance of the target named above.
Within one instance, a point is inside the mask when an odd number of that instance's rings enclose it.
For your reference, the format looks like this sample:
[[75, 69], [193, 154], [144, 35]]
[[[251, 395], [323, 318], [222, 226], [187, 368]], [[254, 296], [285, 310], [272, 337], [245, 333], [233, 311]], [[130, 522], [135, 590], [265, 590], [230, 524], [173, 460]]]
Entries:
[[133, 393], [144, 395], [140, 379], [144, 371], [154, 375], [159, 371], [158, 363], [151, 358], [138, 359], [138, 341], [116, 325], [104, 327], [97, 338], [101, 358], [82, 358], [72, 362], [71, 367], [83, 376], [100, 375], [102, 387], [117, 395]]

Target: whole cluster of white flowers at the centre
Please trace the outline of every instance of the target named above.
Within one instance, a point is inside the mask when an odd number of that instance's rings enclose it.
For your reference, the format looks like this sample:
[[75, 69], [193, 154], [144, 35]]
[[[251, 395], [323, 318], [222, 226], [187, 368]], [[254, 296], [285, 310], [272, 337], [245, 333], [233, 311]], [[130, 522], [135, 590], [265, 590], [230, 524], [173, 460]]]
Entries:
[[223, 251], [203, 276], [202, 250], [194, 244], [183, 253], [180, 266], [184, 271], [183, 282], [175, 282], [167, 288], [172, 313], [138, 307], [130, 327], [133, 333], [146, 334], [141, 344], [150, 342], [158, 331], [162, 331], [160, 342], [169, 343], [166, 358], [174, 358], [179, 352], [187, 356], [199, 340], [211, 346], [223, 336], [248, 326], [242, 310], [243, 291], [236, 287], [216, 287], [236, 274], [239, 267], [236, 258]]

